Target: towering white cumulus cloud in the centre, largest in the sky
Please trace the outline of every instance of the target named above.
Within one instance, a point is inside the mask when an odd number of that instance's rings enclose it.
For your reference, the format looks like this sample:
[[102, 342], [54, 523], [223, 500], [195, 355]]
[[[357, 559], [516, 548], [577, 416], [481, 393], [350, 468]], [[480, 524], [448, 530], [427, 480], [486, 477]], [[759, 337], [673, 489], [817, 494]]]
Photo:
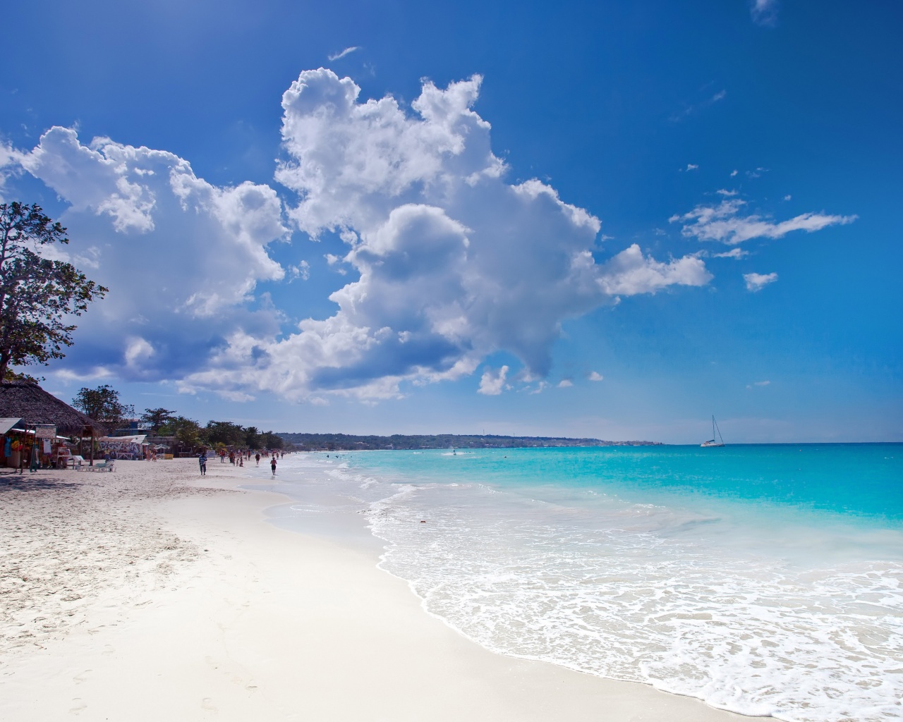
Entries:
[[393, 97], [361, 102], [329, 69], [301, 73], [283, 98], [276, 178], [298, 194], [293, 223], [340, 235], [348, 251], [330, 264], [358, 277], [330, 295], [329, 319], [303, 320], [255, 363], [236, 336], [186, 384], [382, 398], [403, 381], [472, 374], [499, 350], [542, 378], [564, 319], [615, 294], [711, 278], [699, 259], [659, 263], [638, 246], [597, 264], [598, 218], [540, 180], [505, 180], [472, 107], [480, 82], [424, 81], [409, 113]]

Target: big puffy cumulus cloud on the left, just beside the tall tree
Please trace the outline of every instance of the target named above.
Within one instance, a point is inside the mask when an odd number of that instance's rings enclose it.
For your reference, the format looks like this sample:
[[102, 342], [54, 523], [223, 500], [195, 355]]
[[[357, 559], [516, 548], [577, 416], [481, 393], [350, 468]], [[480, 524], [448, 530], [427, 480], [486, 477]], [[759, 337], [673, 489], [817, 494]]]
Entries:
[[250, 317], [274, 332], [272, 313], [243, 308], [258, 282], [284, 277], [266, 250], [287, 233], [273, 189], [214, 186], [173, 153], [108, 138], [83, 145], [61, 127], [16, 158], [70, 203], [70, 245], [58, 250], [110, 289], [79, 319], [72, 373], [99, 363], [125, 377], [178, 377]]

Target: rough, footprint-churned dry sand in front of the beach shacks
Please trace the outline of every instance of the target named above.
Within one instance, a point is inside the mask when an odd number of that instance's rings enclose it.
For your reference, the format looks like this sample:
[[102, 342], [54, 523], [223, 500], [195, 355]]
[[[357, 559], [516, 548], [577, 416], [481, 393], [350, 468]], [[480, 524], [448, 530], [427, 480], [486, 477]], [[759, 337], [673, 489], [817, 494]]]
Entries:
[[162, 588], [197, 557], [154, 503], [235, 492], [186, 486], [185, 466], [0, 476], [0, 664], [88, 624], [98, 598]]

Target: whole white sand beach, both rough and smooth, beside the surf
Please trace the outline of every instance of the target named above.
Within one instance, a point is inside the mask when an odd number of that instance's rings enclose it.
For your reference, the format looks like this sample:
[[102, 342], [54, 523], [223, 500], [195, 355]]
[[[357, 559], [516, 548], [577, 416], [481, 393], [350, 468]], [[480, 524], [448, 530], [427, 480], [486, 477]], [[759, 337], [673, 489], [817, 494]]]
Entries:
[[194, 459], [0, 477], [0, 719], [747, 718], [490, 653], [375, 543], [280, 529], [286, 498], [243, 483]]

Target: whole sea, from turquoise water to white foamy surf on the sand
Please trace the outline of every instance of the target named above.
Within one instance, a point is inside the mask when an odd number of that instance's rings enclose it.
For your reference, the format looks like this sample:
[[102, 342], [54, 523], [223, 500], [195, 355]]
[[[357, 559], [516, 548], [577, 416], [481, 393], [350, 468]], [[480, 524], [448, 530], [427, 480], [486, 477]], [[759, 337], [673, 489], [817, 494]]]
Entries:
[[[326, 482], [312, 468], [329, 471]], [[803, 722], [903, 717], [903, 445], [286, 457], [489, 649]], [[309, 498], [309, 497], [308, 497]]]

